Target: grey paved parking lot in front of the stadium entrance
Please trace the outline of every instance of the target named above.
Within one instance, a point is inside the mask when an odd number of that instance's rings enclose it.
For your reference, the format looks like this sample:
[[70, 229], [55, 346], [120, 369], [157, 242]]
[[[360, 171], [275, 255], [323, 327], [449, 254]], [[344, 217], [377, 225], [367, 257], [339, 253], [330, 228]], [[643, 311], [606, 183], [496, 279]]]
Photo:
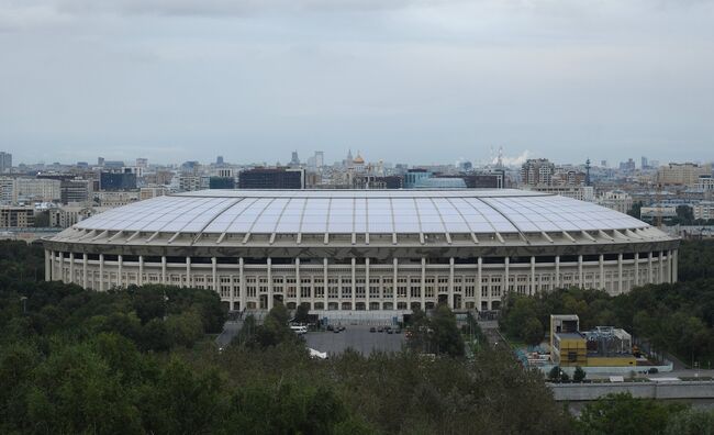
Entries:
[[362, 355], [369, 355], [372, 350], [399, 352], [402, 349], [403, 332], [401, 334], [370, 333], [370, 327], [368, 325], [347, 325], [347, 328], [339, 333], [310, 332], [304, 335], [304, 338], [308, 347], [326, 352], [328, 355], [341, 354], [348, 347]]

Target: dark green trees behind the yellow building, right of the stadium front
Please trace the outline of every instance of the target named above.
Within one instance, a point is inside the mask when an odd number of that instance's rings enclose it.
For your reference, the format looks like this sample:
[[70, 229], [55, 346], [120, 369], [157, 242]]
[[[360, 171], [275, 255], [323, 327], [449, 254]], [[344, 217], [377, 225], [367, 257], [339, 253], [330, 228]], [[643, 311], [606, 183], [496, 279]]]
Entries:
[[537, 345], [550, 314], [578, 314], [583, 331], [598, 325], [625, 328], [685, 361], [714, 360], [714, 279], [645, 286], [617, 297], [577, 288], [510, 294], [499, 324], [506, 335]]

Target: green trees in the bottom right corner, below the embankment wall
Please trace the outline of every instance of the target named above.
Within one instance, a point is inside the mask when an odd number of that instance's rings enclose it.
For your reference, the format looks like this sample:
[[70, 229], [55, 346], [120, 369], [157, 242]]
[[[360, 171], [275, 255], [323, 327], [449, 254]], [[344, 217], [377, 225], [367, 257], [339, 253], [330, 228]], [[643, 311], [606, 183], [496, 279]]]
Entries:
[[714, 433], [714, 411], [609, 394], [583, 408], [576, 428], [585, 435], [705, 435]]

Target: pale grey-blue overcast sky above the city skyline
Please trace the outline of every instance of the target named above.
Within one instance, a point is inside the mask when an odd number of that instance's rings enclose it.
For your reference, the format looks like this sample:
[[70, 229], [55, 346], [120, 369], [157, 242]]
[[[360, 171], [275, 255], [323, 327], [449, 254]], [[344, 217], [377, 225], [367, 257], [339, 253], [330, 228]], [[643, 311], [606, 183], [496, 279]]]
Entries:
[[0, 0], [14, 161], [714, 159], [714, 0]]

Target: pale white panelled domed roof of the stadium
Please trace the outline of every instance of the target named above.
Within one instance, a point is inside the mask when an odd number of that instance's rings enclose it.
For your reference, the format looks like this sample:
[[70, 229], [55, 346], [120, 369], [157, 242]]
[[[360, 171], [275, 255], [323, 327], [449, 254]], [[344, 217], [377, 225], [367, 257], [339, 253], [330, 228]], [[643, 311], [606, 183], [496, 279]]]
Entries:
[[75, 235], [77, 231], [96, 235], [122, 232], [126, 236], [470, 234], [478, 239], [481, 235], [538, 233], [547, 237], [549, 233], [601, 231], [634, 236], [655, 228], [570, 198], [510, 189], [465, 189], [197, 191], [110, 210], [77, 223], [72, 230]]

